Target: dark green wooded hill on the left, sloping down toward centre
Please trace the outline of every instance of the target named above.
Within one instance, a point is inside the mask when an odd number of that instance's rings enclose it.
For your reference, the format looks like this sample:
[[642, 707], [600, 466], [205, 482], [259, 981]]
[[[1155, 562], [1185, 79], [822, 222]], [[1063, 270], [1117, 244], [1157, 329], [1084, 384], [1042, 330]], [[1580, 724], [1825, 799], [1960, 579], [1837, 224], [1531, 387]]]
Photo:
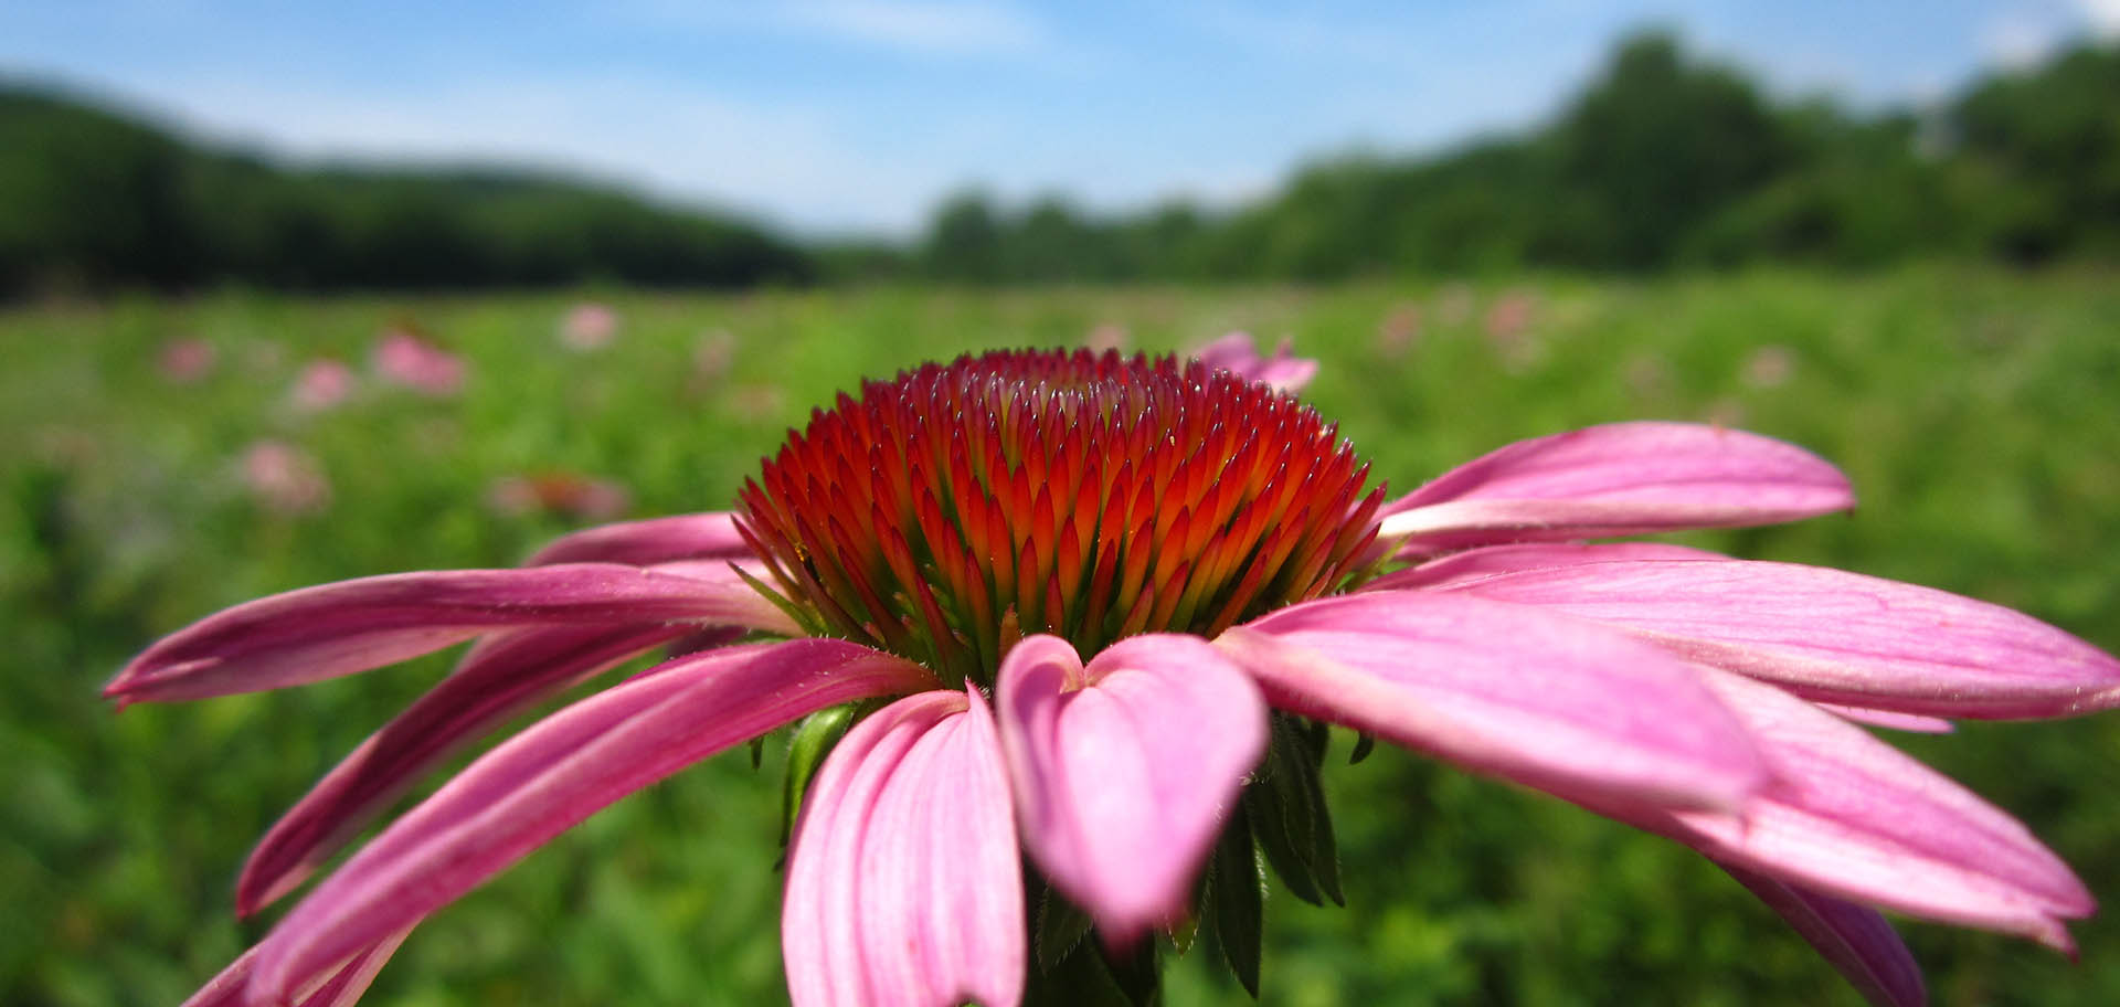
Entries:
[[801, 282], [725, 216], [507, 172], [288, 170], [0, 87], [0, 297], [51, 288]]

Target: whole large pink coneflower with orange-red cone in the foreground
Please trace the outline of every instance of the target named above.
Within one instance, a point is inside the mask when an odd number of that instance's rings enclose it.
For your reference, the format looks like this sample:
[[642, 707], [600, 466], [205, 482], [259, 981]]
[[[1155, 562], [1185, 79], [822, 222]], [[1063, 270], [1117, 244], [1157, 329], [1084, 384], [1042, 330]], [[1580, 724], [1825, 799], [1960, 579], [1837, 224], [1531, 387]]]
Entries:
[[[1582, 545], [1853, 505], [1781, 441], [1594, 426], [1386, 502], [1336, 428], [1253, 377], [1090, 352], [926, 365], [812, 413], [731, 513], [591, 528], [513, 570], [299, 589], [157, 642], [110, 697], [273, 689], [477, 638], [273, 825], [242, 914], [458, 746], [676, 653], [475, 759], [193, 1003], [346, 1003], [437, 907], [793, 723], [797, 1005], [1013, 1005], [1052, 979], [1032, 948], [1147, 960], [1153, 982], [1143, 937], [1255, 924], [1261, 854], [1338, 899], [1325, 829], [1287, 827], [1323, 823], [1327, 723], [1700, 850], [1878, 1003], [1923, 986], [1876, 907], [2069, 948], [2065, 920], [2092, 912], [2069, 869], [1857, 723], [2101, 710], [2120, 661], [1904, 583]], [[1255, 952], [1230, 962], [1255, 990]]]

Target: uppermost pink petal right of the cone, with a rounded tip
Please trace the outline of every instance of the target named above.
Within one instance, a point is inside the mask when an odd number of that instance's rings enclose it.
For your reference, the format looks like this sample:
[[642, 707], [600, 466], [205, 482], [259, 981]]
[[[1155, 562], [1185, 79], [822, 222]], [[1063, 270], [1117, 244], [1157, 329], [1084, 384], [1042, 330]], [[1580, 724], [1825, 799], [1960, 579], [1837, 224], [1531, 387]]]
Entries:
[[1431, 553], [1794, 522], [1855, 507], [1832, 462], [1785, 441], [1698, 424], [1590, 426], [1461, 464], [1384, 505], [1382, 536]]

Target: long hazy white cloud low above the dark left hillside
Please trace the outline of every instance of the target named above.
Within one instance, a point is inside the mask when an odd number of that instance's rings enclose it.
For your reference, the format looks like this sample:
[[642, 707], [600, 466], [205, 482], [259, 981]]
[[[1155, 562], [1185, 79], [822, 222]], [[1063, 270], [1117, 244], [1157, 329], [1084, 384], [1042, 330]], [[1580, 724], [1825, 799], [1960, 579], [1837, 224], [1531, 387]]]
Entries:
[[803, 231], [903, 233], [933, 197], [912, 165], [846, 146], [816, 108], [644, 76], [460, 83], [420, 93], [161, 81], [197, 136], [295, 161], [494, 163], [581, 174]]

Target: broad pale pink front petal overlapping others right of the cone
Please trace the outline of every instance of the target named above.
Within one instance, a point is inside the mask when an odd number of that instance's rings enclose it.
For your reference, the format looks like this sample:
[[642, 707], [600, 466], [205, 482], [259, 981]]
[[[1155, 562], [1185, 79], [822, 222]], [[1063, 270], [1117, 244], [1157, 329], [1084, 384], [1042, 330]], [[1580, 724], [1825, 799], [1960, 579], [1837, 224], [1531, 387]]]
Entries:
[[1700, 670], [1588, 621], [1374, 591], [1295, 604], [1215, 642], [1278, 708], [1560, 797], [1738, 808], [1764, 782]]

